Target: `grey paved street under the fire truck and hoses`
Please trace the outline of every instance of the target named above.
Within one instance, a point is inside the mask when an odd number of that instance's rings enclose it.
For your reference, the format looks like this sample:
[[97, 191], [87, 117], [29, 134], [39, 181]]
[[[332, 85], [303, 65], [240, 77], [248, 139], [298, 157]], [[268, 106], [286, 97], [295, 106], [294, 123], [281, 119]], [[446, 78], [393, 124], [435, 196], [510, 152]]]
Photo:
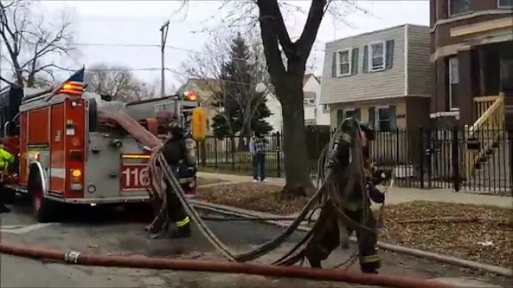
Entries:
[[[150, 240], [143, 227], [147, 224], [113, 209], [70, 210], [66, 223], [37, 224], [24, 207], [16, 206], [1, 215], [1, 242], [33, 245], [66, 251], [69, 249], [100, 254], [144, 254], [152, 257], [180, 257], [222, 260], [198, 231], [187, 240]], [[237, 251], [249, 250], [274, 238], [279, 230], [269, 225], [249, 222], [208, 222], [213, 232]], [[271, 262], [299, 240], [288, 243], [259, 259]], [[338, 250], [326, 267], [347, 259], [351, 251]], [[455, 267], [425, 262], [388, 252], [383, 274], [411, 277], [469, 279], [470, 272]], [[150, 269], [83, 267], [41, 262], [8, 255], [0, 256], [0, 287], [358, 287], [341, 283], [309, 282], [237, 274], [193, 273]], [[350, 269], [356, 269], [351, 267]], [[501, 279], [489, 279], [500, 284]], [[490, 283], [485, 283], [490, 287]], [[467, 285], [467, 287], [470, 287]]]

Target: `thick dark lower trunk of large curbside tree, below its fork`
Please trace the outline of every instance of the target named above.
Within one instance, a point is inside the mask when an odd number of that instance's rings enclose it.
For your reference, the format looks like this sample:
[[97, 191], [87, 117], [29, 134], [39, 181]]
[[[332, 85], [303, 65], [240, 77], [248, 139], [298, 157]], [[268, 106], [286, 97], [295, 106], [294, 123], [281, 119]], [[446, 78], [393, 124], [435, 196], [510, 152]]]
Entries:
[[[299, 196], [312, 195], [315, 187], [311, 181], [309, 159], [306, 151], [304, 130], [303, 76], [301, 79], [289, 79], [289, 85], [276, 89], [282, 102], [284, 170], [286, 184], [284, 192]], [[290, 76], [289, 76], [290, 77]], [[294, 77], [294, 76], [293, 76]], [[298, 76], [294, 77], [297, 78]], [[294, 85], [291, 82], [294, 82]]]

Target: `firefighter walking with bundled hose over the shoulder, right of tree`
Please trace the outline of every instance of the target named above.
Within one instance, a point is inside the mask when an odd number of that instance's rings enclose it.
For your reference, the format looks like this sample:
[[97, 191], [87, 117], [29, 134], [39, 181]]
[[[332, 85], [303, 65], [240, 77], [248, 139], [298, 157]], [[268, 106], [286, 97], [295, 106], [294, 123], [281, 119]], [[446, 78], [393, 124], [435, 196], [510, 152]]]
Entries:
[[[356, 127], [356, 129], [361, 130], [361, 135], [359, 136], [361, 137], [363, 144], [363, 160], [366, 165], [366, 170], [369, 170], [370, 162], [367, 141], [373, 140], [373, 130], [369, 129], [366, 124], [356, 123], [356, 121], [352, 119], [345, 120], [344, 122], [345, 123], [342, 125], [351, 125], [351, 123], [359, 125], [359, 128]], [[349, 128], [355, 127], [349, 126]], [[331, 168], [333, 173], [341, 171], [349, 164], [351, 155], [350, 141], [348, 141], [348, 138], [350, 137], [350, 135], [339, 134], [336, 138], [338, 140], [335, 141], [336, 144], [334, 145], [333, 152], [328, 160], [328, 168]], [[367, 184], [369, 184], [369, 182], [367, 182]], [[378, 274], [380, 260], [375, 247], [376, 242], [378, 242], [378, 236], [375, 233], [376, 220], [371, 209], [371, 201], [369, 200], [369, 197], [374, 202], [383, 202], [384, 195], [372, 183], [370, 186], [366, 186], [366, 190], [365, 199], [362, 199], [363, 193], [361, 193], [361, 191], [353, 191], [348, 197], [348, 204], [343, 208], [343, 212], [354, 222], [360, 223], [370, 229], [359, 230], [356, 233], [358, 238], [358, 258], [361, 272]], [[314, 268], [321, 268], [321, 261], [328, 258], [329, 254], [331, 254], [331, 252], [341, 244], [337, 216], [333, 211], [333, 207], [330, 205], [327, 209], [323, 209], [323, 212], [326, 213], [328, 222], [331, 222], [331, 224], [329, 224], [328, 230], [315, 240], [315, 245], [306, 254], [311, 267]], [[321, 214], [323, 212], [321, 212]], [[332, 216], [329, 216], [328, 214], [331, 214]], [[322, 217], [322, 215], [320, 215], [319, 218], [320, 217]], [[351, 229], [348, 229], [349, 235], [351, 235], [352, 232], [353, 231]]]

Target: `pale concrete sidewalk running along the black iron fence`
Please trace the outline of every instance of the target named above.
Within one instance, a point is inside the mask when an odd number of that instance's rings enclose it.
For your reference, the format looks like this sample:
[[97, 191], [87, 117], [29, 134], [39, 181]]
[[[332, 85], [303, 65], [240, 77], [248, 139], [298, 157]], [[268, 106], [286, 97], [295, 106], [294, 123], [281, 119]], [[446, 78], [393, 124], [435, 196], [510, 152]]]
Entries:
[[[199, 177], [202, 178], [217, 178], [229, 182], [252, 182], [249, 176], [232, 175], [224, 173], [205, 173], [199, 172]], [[266, 178], [268, 184], [285, 185], [284, 178]], [[403, 188], [392, 187], [387, 192], [387, 204], [398, 204], [402, 202], [410, 202], [414, 200], [433, 201], [433, 202], [448, 202], [448, 203], [462, 203], [462, 204], [475, 204], [475, 205], [491, 205], [503, 208], [513, 209], [512, 197], [496, 196], [496, 195], [478, 195], [465, 192], [454, 192], [452, 190], [443, 189], [418, 189], [418, 188]]]

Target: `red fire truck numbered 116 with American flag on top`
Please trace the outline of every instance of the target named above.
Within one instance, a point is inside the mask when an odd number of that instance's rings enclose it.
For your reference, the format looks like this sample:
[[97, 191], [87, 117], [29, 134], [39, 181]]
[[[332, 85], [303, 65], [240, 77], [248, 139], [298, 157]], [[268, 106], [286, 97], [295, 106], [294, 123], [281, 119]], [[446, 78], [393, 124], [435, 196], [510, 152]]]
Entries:
[[[149, 152], [123, 128], [142, 124], [160, 133], [162, 121], [152, 118], [152, 113], [139, 121], [128, 116], [137, 114], [134, 111], [143, 103], [126, 105], [84, 92], [83, 73], [81, 69], [53, 90], [0, 91], [1, 143], [18, 155], [4, 171], [4, 193], [30, 197], [40, 222], [53, 221], [63, 203], [102, 205], [149, 198]], [[185, 123], [192, 117], [191, 108], [197, 107], [195, 101], [167, 101]], [[105, 121], [102, 111], [124, 115], [126, 120]]]

